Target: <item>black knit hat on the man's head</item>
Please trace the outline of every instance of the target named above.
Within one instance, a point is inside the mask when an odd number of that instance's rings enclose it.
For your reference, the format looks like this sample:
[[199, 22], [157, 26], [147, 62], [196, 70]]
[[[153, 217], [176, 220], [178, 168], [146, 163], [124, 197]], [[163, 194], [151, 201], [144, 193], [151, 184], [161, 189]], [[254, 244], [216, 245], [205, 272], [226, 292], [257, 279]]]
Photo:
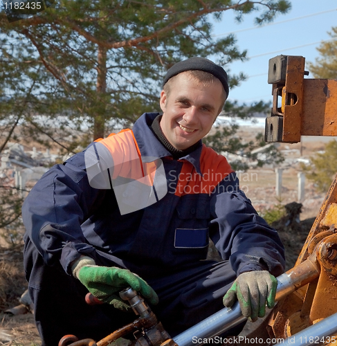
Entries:
[[214, 75], [224, 86], [226, 95], [228, 97], [229, 88], [228, 88], [228, 77], [226, 71], [219, 65], [211, 62], [205, 57], [190, 57], [188, 60], [183, 60], [182, 62], [177, 62], [170, 69], [168, 69], [163, 86], [166, 84], [167, 80], [178, 75], [181, 72], [199, 70], [211, 73]]

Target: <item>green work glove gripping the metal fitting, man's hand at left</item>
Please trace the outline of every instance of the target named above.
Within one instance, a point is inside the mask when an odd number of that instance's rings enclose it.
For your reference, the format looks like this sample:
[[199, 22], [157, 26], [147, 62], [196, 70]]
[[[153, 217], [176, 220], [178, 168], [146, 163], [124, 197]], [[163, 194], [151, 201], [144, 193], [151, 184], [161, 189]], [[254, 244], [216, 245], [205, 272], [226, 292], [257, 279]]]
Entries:
[[118, 294], [128, 286], [138, 291], [150, 303], [158, 303], [158, 295], [147, 282], [127, 269], [107, 266], [83, 266], [77, 273], [77, 277], [92, 295], [120, 310], [130, 308], [129, 304], [122, 300]]

